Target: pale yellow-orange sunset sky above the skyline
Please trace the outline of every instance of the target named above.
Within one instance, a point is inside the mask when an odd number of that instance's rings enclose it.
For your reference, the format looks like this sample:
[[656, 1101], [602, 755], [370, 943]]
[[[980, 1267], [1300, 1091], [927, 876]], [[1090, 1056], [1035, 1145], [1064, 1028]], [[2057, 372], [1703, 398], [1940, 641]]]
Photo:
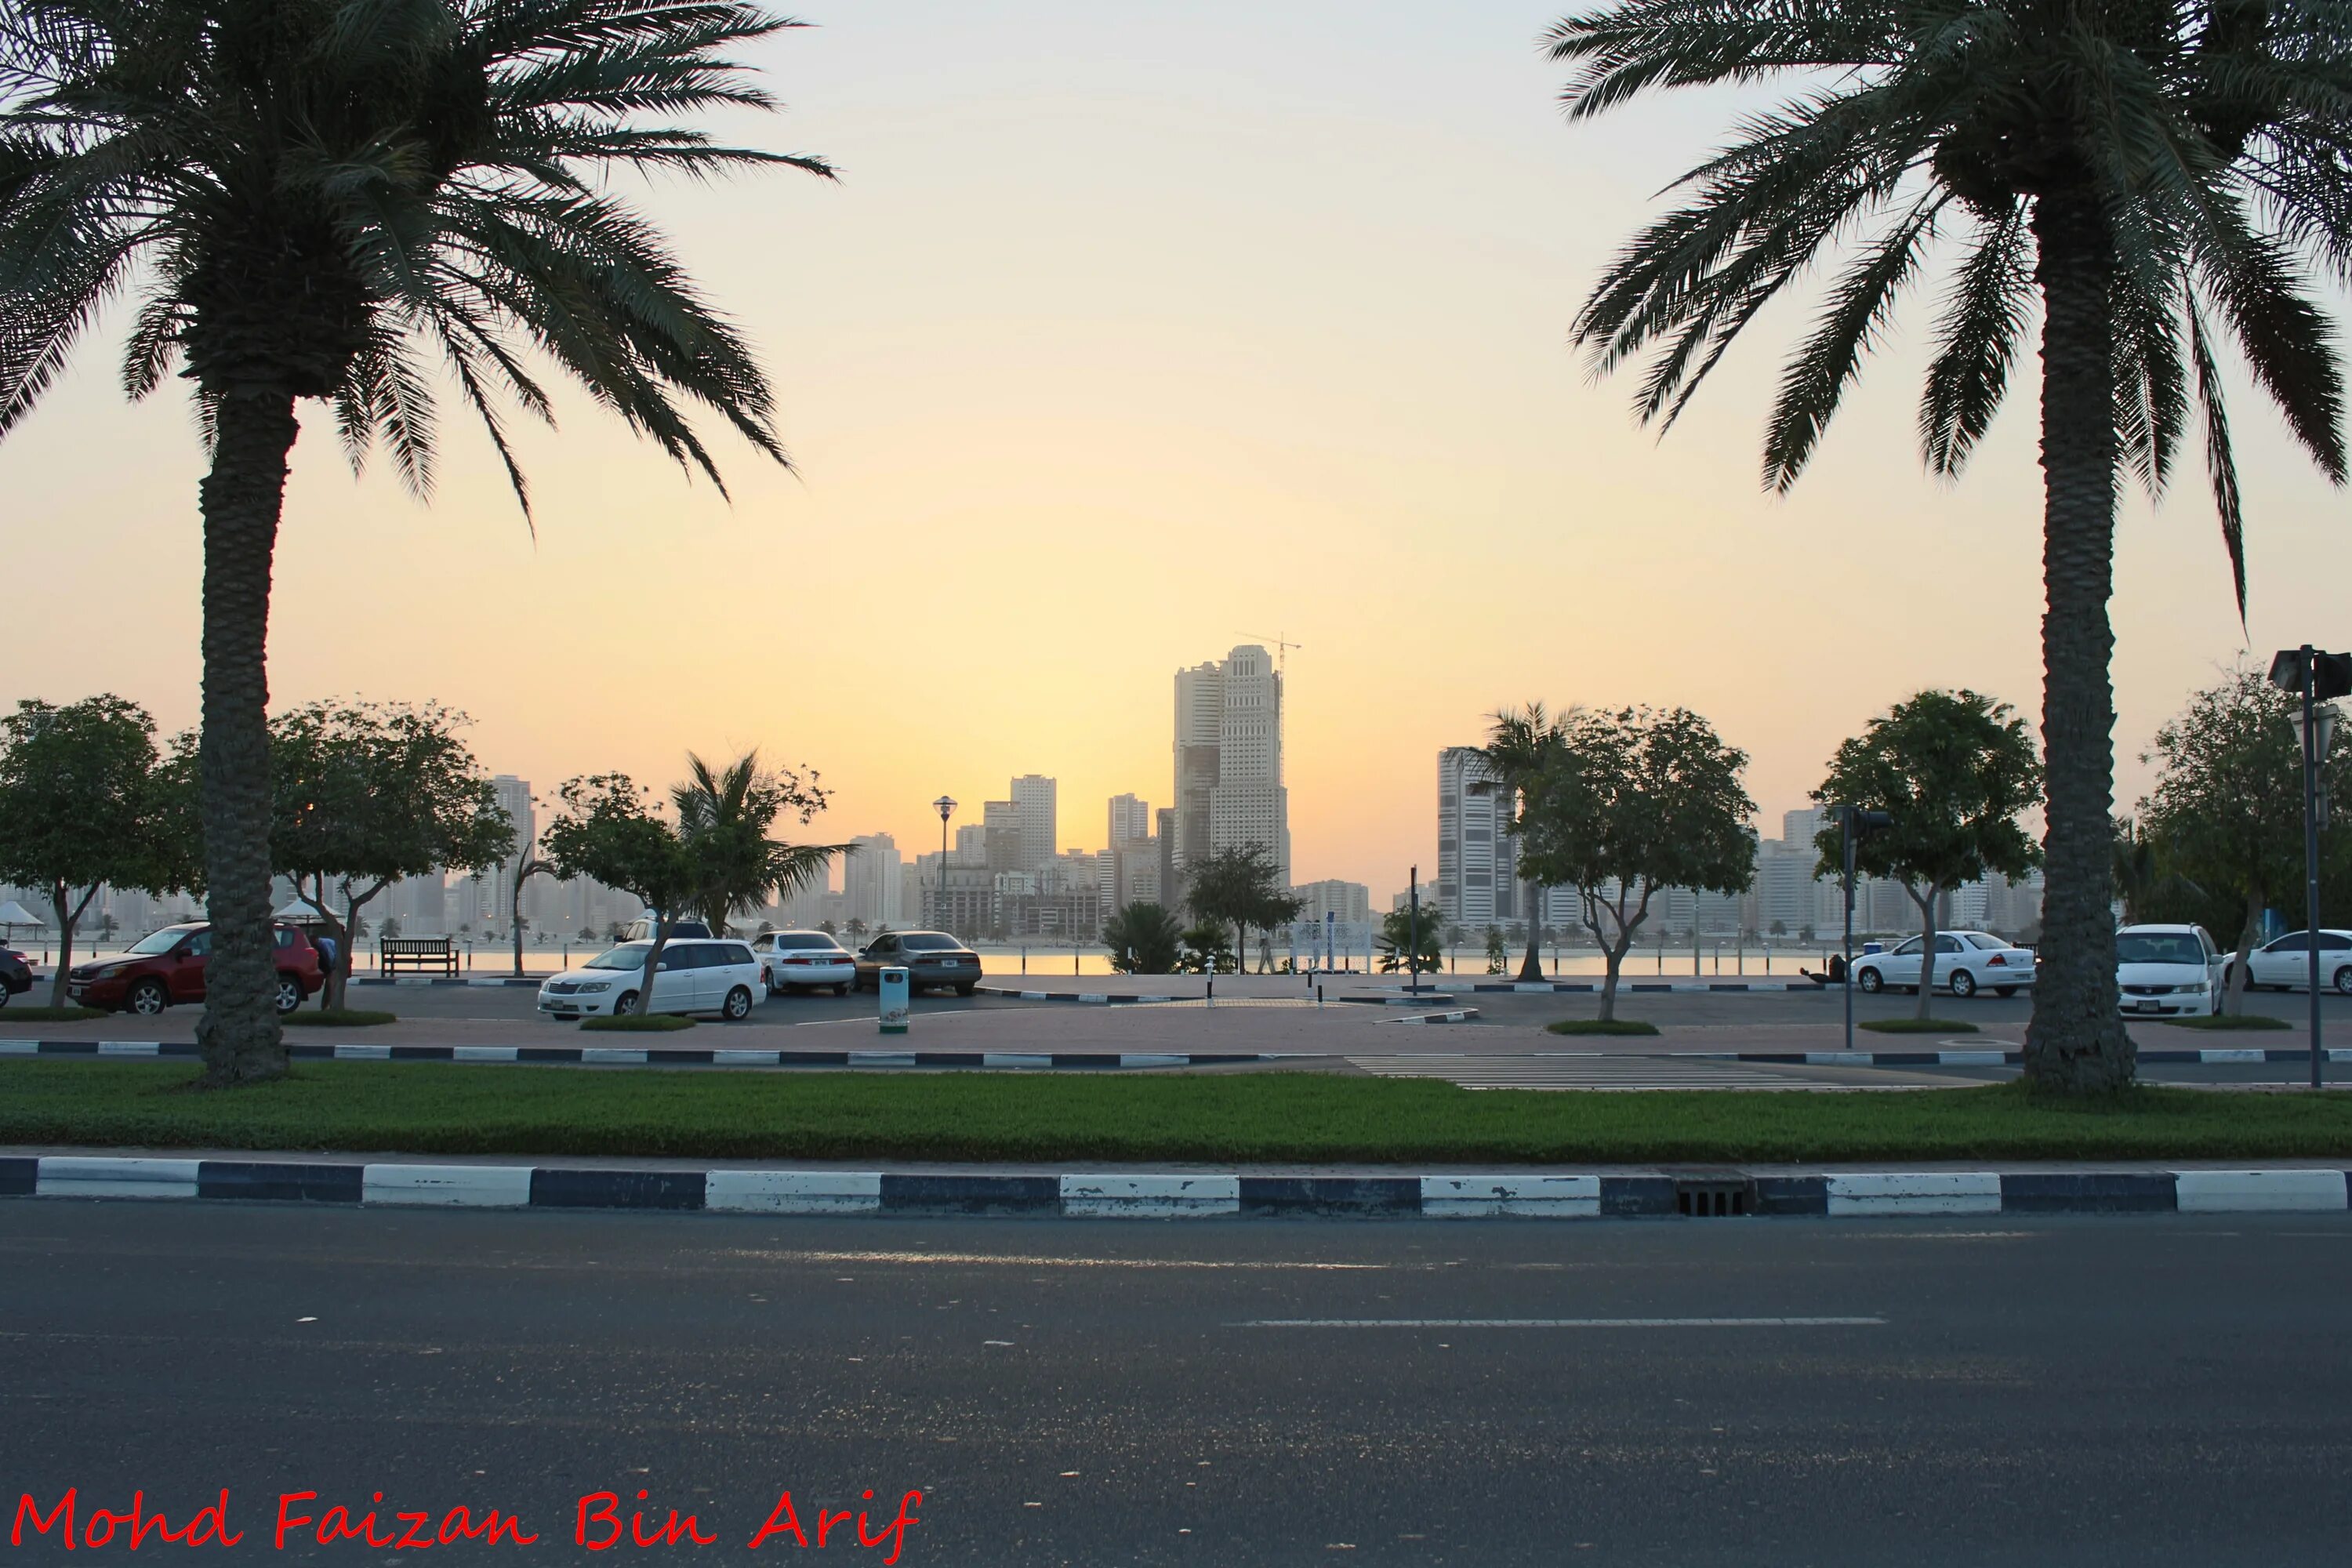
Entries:
[[[1569, 127], [1536, 40], [1475, 0], [835, 0], [757, 52], [790, 103], [724, 127], [821, 153], [649, 188], [757, 341], [797, 473], [720, 442], [734, 503], [569, 400], [524, 437], [524, 529], [480, 435], [440, 489], [296, 447], [273, 701], [440, 698], [485, 764], [668, 783], [757, 745], [837, 790], [814, 832], [936, 846], [929, 799], [1061, 780], [1169, 804], [1171, 675], [1284, 632], [1294, 875], [1385, 907], [1435, 867], [1435, 752], [1498, 705], [1684, 703], [1752, 755], [1762, 827], [1926, 684], [2039, 710], [2023, 378], [1959, 487], [1922, 475], [1924, 299], [1813, 470], [1759, 489], [1778, 360], [1752, 327], [1665, 442], [1566, 346], [1606, 254], [1743, 108]], [[198, 698], [200, 451], [176, 388], [115, 390], [118, 313], [0, 444], [0, 696]], [[2239, 378], [2239, 386], [2244, 381]], [[2345, 496], [2234, 404], [2251, 649], [2345, 646]], [[2122, 797], [2249, 649], [2199, 458], [2117, 564]]]

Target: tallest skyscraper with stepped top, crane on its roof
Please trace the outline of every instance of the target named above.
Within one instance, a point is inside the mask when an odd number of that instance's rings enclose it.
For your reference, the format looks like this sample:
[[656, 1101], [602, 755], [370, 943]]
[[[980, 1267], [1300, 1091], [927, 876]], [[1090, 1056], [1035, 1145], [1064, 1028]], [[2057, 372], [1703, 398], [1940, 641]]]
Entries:
[[1282, 785], [1282, 675], [1256, 646], [1176, 672], [1176, 858], [1261, 846], [1291, 879]]

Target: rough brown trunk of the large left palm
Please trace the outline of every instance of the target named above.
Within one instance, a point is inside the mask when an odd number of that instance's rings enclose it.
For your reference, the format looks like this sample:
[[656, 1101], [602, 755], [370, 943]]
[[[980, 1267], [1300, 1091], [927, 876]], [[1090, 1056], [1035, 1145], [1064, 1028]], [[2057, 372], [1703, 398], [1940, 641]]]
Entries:
[[214, 416], [205, 475], [205, 1084], [254, 1084], [287, 1070], [270, 957], [270, 555], [294, 449], [292, 393], [230, 393]]

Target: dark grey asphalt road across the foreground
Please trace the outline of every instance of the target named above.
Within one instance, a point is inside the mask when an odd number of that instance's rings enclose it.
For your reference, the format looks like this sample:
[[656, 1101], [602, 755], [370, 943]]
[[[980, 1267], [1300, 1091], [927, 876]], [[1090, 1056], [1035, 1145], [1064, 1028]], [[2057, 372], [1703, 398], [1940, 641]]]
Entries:
[[[2340, 1563], [2347, 1293], [2340, 1215], [5, 1201], [0, 1500], [143, 1488], [176, 1528], [228, 1488], [247, 1535], [219, 1561], [741, 1559], [790, 1488], [811, 1540], [818, 1507], [882, 1530], [922, 1490], [903, 1563]], [[626, 1516], [637, 1488], [720, 1544], [572, 1544], [579, 1495]], [[419, 1559], [313, 1528], [278, 1554], [280, 1490], [313, 1516], [383, 1493], [383, 1523], [499, 1507], [541, 1542]], [[887, 1556], [849, 1528], [762, 1556]]]

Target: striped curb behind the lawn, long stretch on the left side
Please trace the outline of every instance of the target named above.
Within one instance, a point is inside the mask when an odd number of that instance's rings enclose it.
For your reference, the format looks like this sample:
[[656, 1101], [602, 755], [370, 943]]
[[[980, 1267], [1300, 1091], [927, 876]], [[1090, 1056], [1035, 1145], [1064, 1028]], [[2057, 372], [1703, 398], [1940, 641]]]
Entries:
[[[1399, 1023], [1418, 1023], [1402, 1018]], [[200, 1056], [186, 1039], [0, 1039], [5, 1056], [96, 1060]], [[369, 1046], [287, 1041], [294, 1060], [334, 1063], [560, 1063], [583, 1067], [1225, 1067], [1279, 1063], [1263, 1051], [729, 1051], [682, 1046]]]

